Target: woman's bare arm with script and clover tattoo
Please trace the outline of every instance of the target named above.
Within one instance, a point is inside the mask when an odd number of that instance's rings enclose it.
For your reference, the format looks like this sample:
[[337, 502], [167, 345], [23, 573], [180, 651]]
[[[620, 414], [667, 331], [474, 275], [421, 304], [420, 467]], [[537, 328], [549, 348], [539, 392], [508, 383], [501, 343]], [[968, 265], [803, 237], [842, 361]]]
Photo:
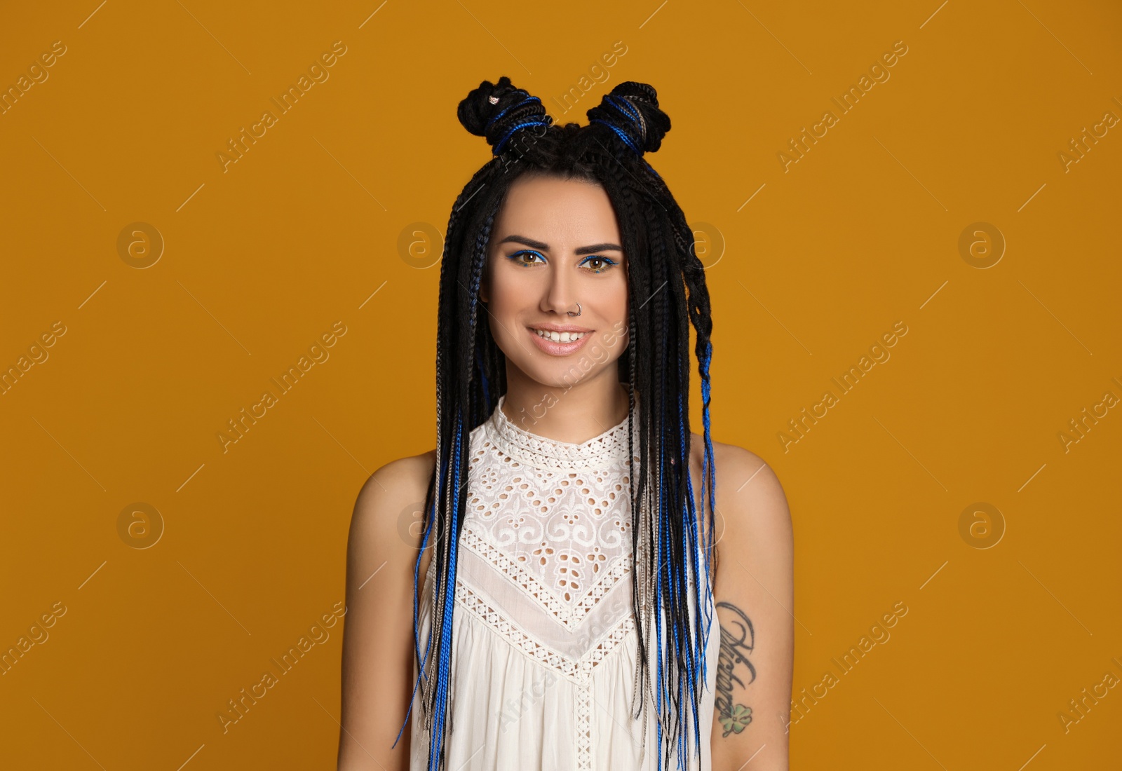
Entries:
[[788, 771], [794, 662], [791, 513], [775, 472], [762, 458], [725, 444], [715, 446], [714, 455], [720, 658], [712, 771]]

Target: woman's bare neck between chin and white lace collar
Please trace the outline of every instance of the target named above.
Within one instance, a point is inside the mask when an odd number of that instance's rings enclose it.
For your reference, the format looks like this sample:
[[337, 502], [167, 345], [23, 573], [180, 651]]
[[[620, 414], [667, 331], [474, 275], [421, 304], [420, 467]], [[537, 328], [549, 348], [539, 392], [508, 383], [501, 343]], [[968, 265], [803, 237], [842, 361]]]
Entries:
[[570, 444], [587, 442], [627, 418], [627, 386], [614, 370], [604, 375], [555, 388], [508, 374], [503, 415], [531, 434]]

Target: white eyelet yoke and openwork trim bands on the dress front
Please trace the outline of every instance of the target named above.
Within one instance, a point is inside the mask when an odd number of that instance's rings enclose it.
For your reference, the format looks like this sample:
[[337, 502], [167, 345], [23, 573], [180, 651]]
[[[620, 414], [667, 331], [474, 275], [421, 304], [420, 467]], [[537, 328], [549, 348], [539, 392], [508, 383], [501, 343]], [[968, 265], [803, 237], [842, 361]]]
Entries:
[[[591, 611], [629, 579], [631, 474], [625, 418], [580, 444], [536, 436], [502, 411], [472, 431], [469, 498], [460, 545], [532, 597], [550, 619], [578, 633]], [[631, 421], [636, 429], [637, 422]], [[620, 589], [622, 591], [622, 589]], [[559, 653], [457, 582], [457, 602], [504, 641], [576, 686], [577, 768], [592, 768], [591, 675], [624, 639], [636, 635], [626, 613], [589, 642], [580, 658]]]

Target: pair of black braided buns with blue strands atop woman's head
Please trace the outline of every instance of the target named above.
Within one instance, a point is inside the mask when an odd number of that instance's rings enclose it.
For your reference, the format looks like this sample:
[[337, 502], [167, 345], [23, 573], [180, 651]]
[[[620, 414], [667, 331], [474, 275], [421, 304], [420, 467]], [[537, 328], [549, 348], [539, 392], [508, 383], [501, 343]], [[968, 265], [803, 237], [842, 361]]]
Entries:
[[[670, 131], [670, 117], [659, 109], [654, 87], [627, 81], [617, 84], [587, 113], [589, 126], [613, 132], [637, 156], [654, 152]], [[460, 102], [460, 123], [476, 137], [484, 137], [495, 155], [503, 152], [511, 137], [525, 128], [553, 123], [537, 96], [517, 89], [504, 75], [498, 83], [484, 81]]]

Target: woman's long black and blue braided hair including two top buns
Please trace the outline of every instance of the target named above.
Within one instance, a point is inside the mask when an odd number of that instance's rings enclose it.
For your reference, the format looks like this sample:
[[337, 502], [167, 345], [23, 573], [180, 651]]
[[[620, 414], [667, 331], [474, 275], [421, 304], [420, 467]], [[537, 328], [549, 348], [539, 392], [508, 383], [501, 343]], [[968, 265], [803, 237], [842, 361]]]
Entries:
[[[662, 177], [643, 159], [644, 152], [659, 149], [670, 130], [670, 118], [659, 109], [655, 90], [645, 83], [620, 83], [587, 115], [586, 127], [555, 126], [539, 97], [516, 89], [505, 76], [497, 84], [484, 81], [459, 104], [460, 122], [472, 134], [487, 139], [493, 158], [471, 177], [452, 206], [440, 268], [438, 462], [429, 482], [424, 536], [413, 573], [414, 654], [419, 670], [413, 694], [415, 699], [421, 688], [420, 718], [430, 732], [427, 771], [443, 771], [444, 733], [450, 727], [445, 716], [452, 614], [470, 434], [490, 417], [506, 391], [506, 357], [489, 325], [480, 323], [478, 290], [493, 224], [511, 185], [523, 175], [598, 184], [615, 210], [628, 257], [628, 340], [626, 355], [618, 364], [620, 381], [628, 384], [629, 391], [628, 426], [636, 415], [636, 393], [643, 398], [637, 415], [640, 472], [629, 477], [635, 517], [632, 602], [641, 630], [633, 704], [638, 705], [638, 717], [644, 699], [635, 697], [642, 684], [656, 709], [660, 765], [670, 768], [674, 746], [679, 768], [690, 744], [696, 753], [701, 751], [698, 702], [706, 681], [705, 651], [712, 621], [715, 564], [710, 555], [716, 507], [709, 430], [709, 291], [703, 266], [693, 249], [692, 229]], [[691, 324], [705, 424], [701, 499], [708, 494], [709, 503], [708, 521], [702, 513], [700, 523], [689, 474]], [[628, 437], [628, 457], [634, 458], [632, 431]], [[422, 656], [417, 588], [422, 556], [430, 545], [432, 613]], [[649, 650], [652, 637], [653, 657]], [[410, 710], [412, 706], [411, 700]], [[644, 721], [644, 730], [645, 725]], [[688, 736], [690, 725], [692, 742]]]

